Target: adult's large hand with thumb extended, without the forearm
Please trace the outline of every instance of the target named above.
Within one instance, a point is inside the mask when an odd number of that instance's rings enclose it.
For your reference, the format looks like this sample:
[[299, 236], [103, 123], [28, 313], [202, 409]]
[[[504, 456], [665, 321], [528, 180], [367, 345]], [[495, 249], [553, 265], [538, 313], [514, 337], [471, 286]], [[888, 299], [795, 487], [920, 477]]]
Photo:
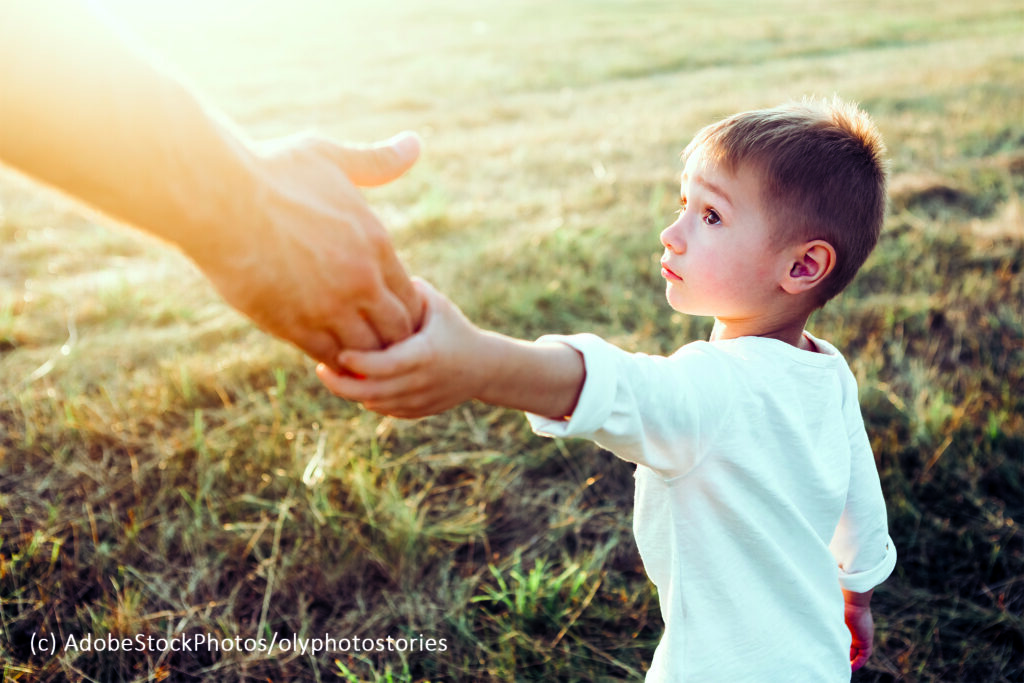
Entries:
[[270, 334], [337, 368], [345, 348], [404, 339], [422, 304], [384, 226], [354, 185], [388, 182], [418, 158], [411, 133], [373, 146], [312, 136], [256, 145], [252, 239], [189, 256], [224, 299]]

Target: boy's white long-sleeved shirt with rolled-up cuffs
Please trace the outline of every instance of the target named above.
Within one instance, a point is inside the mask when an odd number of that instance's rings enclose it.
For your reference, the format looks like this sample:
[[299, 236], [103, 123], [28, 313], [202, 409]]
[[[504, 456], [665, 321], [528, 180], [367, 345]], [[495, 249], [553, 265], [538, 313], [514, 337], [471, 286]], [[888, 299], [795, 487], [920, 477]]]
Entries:
[[593, 335], [568, 421], [535, 431], [597, 441], [637, 464], [633, 531], [665, 634], [648, 681], [850, 680], [840, 588], [896, 563], [846, 360], [774, 339], [693, 342], [670, 357]]

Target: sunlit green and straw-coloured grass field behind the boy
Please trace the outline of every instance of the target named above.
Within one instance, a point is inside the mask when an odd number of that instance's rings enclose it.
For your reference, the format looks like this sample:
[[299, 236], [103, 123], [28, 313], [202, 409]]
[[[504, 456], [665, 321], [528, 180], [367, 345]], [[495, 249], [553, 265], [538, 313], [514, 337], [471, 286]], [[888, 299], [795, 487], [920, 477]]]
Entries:
[[[656, 268], [680, 150], [860, 101], [891, 212], [811, 324], [860, 382], [900, 553], [854, 680], [1024, 681], [1024, 2], [112, 4], [254, 136], [420, 131], [369, 199], [411, 270], [524, 337], [706, 337]], [[482, 404], [340, 401], [177, 253], [13, 177], [0, 245], [4, 680], [642, 678], [628, 465]], [[151, 637], [230, 642], [111, 651]]]

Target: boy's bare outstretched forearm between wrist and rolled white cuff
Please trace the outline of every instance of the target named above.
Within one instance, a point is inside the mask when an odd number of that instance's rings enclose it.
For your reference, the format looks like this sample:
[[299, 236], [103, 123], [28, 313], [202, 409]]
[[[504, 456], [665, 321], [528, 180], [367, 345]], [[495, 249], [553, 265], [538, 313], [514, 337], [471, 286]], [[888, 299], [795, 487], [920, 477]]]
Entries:
[[557, 342], [483, 336], [489, 372], [477, 398], [549, 418], [572, 415], [587, 376], [579, 351]]

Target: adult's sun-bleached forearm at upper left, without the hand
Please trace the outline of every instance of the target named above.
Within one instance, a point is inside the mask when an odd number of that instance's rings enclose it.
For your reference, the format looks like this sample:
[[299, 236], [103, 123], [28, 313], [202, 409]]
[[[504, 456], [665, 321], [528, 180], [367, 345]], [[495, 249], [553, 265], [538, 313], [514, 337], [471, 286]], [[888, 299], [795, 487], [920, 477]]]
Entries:
[[252, 228], [250, 145], [87, 4], [5, 0], [0, 73], [4, 164], [194, 258]]

